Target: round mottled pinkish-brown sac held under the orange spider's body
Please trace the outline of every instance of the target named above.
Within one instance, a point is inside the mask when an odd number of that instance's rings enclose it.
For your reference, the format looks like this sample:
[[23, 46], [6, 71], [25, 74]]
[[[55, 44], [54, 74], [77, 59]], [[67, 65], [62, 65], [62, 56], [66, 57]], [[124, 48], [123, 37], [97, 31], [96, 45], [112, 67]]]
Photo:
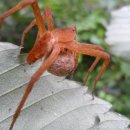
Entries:
[[61, 52], [55, 62], [48, 68], [48, 72], [57, 76], [66, 76], [75, 67], [75, 56], [72, 53]]

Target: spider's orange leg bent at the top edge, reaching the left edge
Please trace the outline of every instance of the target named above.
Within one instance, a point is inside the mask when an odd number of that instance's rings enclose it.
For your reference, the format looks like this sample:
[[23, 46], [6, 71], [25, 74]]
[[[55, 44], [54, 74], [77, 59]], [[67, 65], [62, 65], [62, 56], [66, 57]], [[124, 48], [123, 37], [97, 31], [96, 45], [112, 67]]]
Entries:
[[37, 21], [40, 36], [42, 36], [46, 29], [45, 29], [45, 25], [43, 23], [43, 19], [42, 19], [41, 13], [40, 13], [40, 9], [39, 9], [39, 6], [38, 6], [38, 3], [37, 3], [36, 0], [24, 0], [23, 2], [17, 4], [15, 7], [11, 8], [6, 13], [4, 13], [3, 15], [0, 16], [0, 24], [2, 24], [3, 20], [6, 17], [15, 13], [18, 10], [23, 9], [24, 7], [26, 7], [28, 5], [31, 5], [32, 8], [33, 8], [33, 12], [35, 14], [35, 18], [36, 18], [36, 21]]

